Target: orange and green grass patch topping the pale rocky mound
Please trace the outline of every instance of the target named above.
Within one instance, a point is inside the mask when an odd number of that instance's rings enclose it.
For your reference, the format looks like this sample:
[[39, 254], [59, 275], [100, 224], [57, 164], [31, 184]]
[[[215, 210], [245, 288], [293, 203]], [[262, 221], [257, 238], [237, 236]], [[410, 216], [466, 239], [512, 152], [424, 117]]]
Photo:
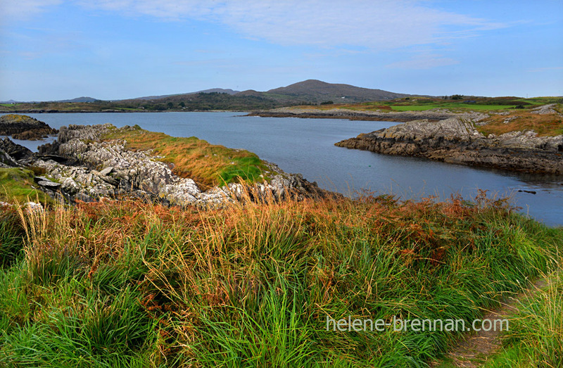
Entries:
[[150, 149], [160, 156], [160, 161], [171, 164], [175, 175], [194, 179], [203, 188], [239, 181], [262, 182], [268, 179], [270, 170], [255, 153], [209, 144], [196, 137], [170, 137], [137, 125], [131, 129], [113, 129], [103, 139], [125, 139], [126, 148], [133, 151]]

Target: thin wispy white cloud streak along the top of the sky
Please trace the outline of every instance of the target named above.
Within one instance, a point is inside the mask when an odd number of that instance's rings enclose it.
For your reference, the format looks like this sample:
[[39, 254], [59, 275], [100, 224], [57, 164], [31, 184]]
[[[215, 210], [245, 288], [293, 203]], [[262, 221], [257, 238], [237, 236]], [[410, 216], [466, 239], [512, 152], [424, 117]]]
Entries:
[[87, 8], [148, 15], [162, 20], [221, 23], [252, 39], [281, 45], [361, 46], [396, 49], [445, 42], [506, 27], [440, 11], [416, 0], [78, 0]]

